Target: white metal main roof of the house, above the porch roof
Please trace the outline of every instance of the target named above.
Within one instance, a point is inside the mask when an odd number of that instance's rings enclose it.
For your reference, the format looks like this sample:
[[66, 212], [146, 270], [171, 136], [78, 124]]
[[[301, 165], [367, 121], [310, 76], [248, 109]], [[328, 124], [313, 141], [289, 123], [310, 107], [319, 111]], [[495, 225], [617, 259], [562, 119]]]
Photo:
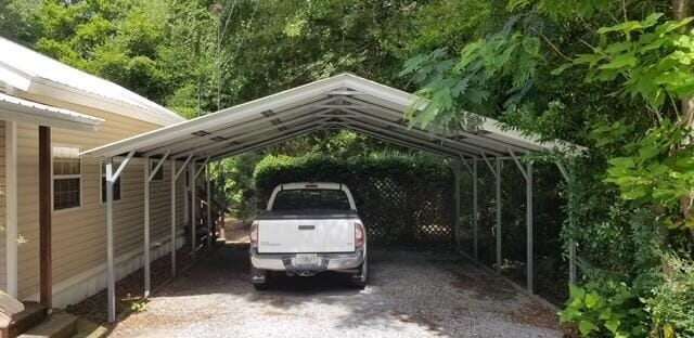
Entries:
[[72, 101], [162, 126], [184, 120], [178, 114], [114, 82], [73, 68], [0, 37], [0, 82], [35, 94]]

